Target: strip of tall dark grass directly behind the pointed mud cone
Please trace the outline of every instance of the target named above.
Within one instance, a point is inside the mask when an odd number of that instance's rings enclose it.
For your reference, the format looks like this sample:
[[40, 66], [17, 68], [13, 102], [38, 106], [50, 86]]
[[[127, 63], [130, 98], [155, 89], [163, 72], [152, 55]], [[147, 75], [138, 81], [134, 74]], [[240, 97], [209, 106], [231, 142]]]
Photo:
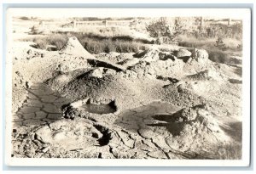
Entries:
[[[131, 36], [97, 36], [93, 34], [83, 34], [76, 32], [55, 33], [44, 37], [34, 37], [32, 42], [36, 43], [36, 48], [46, 49], [48, 45], [54, 45], [60, 50], [69, 36], [76, 36], [79, 42], [89, 53], [135, 53], [138, 50], [146, 49], [143, 39], [133, 39]], [[26, 40], [27, 41], [27, 40]]]

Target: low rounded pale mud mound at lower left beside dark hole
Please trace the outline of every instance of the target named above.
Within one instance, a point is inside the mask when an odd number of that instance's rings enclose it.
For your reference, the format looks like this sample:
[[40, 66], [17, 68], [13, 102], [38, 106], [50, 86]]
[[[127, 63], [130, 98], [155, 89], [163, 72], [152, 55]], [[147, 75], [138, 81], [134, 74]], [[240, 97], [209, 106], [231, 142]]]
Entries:
[[35, 133], [42, 142], [67, 150], [98, 145], [97, 138], [102, 138], [102, 133], [87, 120], [55, 121]]

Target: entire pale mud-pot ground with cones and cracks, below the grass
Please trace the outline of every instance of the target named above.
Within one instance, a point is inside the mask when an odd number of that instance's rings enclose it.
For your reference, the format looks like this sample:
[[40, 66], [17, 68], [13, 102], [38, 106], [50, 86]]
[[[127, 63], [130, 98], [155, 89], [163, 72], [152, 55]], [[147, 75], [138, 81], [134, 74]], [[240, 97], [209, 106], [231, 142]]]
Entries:
[[91, 55], [15, 42], [14, 157], [240, 159], [241, 67], [202, 49]]

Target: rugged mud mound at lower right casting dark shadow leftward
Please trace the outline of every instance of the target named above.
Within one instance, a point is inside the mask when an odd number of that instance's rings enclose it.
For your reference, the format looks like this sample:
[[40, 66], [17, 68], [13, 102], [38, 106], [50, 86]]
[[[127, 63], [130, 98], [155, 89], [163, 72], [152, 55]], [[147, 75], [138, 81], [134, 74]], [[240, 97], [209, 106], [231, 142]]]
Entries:
[[173, 115], [154, 115], [154, 119], [166, 122], [163, 125], [171, 133], [166, 143], [172, 149], [211, 152], [216, 144], [229, 141], [218, 122], [202, 105], [181, 109]]

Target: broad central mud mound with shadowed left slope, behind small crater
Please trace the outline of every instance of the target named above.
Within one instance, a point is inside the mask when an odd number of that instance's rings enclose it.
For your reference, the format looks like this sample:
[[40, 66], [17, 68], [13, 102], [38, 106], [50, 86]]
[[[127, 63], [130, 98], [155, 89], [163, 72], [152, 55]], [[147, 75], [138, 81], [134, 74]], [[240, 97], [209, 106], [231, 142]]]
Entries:
[[[94, 103], [115, 100], [118, 109], [132, 108], [141, 102], [160, 98], [160, 90], [165, 84], [165, 81], [150, 76], [139, 79], [131, 70], [117, 72], [102, 67], [73, 75], [65, 85], [59, 86], [60, 93], [73, 101], [85, 98], [91, 98]], [[55, 79], [48, 81], [50, 87], [55, 88]]]

